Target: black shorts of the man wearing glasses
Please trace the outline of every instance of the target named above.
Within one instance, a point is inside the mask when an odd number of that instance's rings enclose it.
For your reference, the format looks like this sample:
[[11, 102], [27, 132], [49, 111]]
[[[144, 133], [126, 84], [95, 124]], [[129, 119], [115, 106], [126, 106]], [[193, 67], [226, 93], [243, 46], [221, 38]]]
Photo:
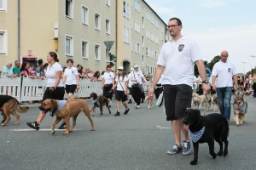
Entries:
[[177, 120], [177, 118], [183, 117], [184, 112], [189, 106], [189, 101], [191, 102], [191, 87], [187, 84], [165, 84], [163, 87], [166, 107], [166, 121]]

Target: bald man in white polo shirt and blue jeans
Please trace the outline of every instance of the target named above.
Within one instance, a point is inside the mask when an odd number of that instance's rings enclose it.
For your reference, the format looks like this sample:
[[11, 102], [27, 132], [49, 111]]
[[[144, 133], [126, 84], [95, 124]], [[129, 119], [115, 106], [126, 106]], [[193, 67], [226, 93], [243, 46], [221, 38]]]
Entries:
[[[230, 99], [232, 89], [237, 90], [237, 70], [236, 66], [228, 60], [229, 54], [227, 51], [221, 52], [220, 57], [220, 61], [215, 63], [212, 68], [212, 89], [216, 90], [217, 88], [220, 113], [230, 121]], [[217, 76], [218, 80], [216, 81]], [[232, 78], [234, 78], [235, 86]]]

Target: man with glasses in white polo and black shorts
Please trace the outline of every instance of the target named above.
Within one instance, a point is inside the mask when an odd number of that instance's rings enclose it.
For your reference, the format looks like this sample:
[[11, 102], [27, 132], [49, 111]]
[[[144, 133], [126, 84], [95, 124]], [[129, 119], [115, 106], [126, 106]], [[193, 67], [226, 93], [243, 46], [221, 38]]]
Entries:
[[[182, 28], [181, 20], [177, 18], [169, 20], [168, 31], [172, 40], [166, 42], [161, 48], [154, 80], [148, 95], [153, 97], [154, 87], [166, 69], [165, 77], [162, 80], [166, 121], [172, 122], [172, 131], [176, 142], [167, 153], [176, 154], [183, 151], [183, 155], [189, 155], [191, 144], [188, 131], [183, 129], [183, 116], [192, 97], [191, 88], [193, 87], [195, 64], [203, 80], [202, 88], [205, 93], [210, 90], [210, 86], [207, 83], [207, 72], [200, 50], [193, 39], [181, 35]], [[183, 131], [183, 143], [181, 143], [181, 131]]]

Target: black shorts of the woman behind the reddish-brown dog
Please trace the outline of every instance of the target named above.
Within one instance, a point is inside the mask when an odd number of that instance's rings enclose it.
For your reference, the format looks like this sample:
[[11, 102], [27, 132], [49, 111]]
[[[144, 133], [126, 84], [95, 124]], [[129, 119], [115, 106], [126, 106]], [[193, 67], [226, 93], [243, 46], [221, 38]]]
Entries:
[[44, 92], [44, 97], [43, 97], [43, 101], [45, 99], [58, 99], [58, 100], [63, 100], [64, 99], [64, 94], [65, 94], [65, 88], [64, 87], [57, 87], [55, 89], [55, 92], [50, 92], [49, 88], [46, 88], [45, 92]]

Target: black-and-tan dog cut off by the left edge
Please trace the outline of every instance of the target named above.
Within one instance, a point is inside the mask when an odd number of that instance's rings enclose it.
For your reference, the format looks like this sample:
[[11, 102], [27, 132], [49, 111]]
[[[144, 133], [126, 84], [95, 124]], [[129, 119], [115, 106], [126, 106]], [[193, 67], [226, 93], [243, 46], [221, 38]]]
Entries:
[[26, 113], [26, 111], [28, 110], [29, 107], [22, 109], [19, 105], [18, 100], [13, 98], [12, 96], [0, 95], [0, 111], [2, 111], [3, 114], [6, 115], [6, 120], [5, 122], [3, 122], [2, 126], [5, 126], [11, 119], [9, 114], [12, 114], [16, 117], [17, 122], [15, 122], [15, 125], [18, 125], [20, 123], [20, 116], [15, 111], [19, 111], [20, 113]]

